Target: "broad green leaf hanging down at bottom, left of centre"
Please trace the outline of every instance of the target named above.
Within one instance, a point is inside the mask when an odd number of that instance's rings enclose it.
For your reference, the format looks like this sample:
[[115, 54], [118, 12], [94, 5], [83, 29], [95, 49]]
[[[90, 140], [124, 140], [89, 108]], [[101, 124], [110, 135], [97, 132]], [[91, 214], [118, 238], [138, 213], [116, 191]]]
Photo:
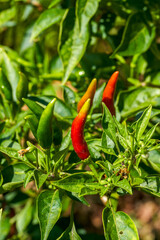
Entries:
[[59, 190], [41, 192], [37, 199], [38, 219], [41, 229], [41, 239], [47, 240], [50, 231], [58, 221], [62, 203]]

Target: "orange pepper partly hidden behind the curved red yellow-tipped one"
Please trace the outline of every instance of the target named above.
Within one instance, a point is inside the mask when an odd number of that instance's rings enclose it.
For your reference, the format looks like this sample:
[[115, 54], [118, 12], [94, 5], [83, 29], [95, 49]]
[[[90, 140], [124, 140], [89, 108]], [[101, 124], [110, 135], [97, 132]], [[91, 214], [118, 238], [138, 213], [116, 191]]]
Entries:
[[87, 88], [87, 91], [85, 92], [85, 94], [83, 95], [81, 100], [79, 101], [79, 103], [77, 105], [77, 112], [79, 112], [81, 110], [83, 104], [87, 101], [88, 98], [91, 99], [91, 105], [92, 105], [93, 97], [94, 97], [94, 94], [95, 94], [95, 91], [96, 91], [96, 87], [97, 87], [97, 79], [94, 78], [92, 80], [92, 82], [89, 84], [89, 87]]

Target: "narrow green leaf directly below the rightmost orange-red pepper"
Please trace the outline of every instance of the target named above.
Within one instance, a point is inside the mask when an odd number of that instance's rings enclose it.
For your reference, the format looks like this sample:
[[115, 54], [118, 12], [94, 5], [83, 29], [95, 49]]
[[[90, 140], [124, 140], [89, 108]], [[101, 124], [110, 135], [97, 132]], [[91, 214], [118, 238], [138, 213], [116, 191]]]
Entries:
[[102, 117], [102, 126], [105, 131], [105, 133], [109, 136], [109, 138], [115, 143], [117, 149], [118, 143], [117, 143], [117, 138], [116, 138], [116, 128], [115, 128], [115, 123], [113, 121], [112, 115], [106, 105], [102, 103], [103, 105], [103, 117]]

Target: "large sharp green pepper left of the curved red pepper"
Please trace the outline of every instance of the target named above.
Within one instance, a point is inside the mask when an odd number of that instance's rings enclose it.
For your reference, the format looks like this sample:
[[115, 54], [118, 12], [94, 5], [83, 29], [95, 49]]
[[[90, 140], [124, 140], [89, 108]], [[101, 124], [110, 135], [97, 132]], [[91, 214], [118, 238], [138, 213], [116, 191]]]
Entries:
[[37, 129], [38, 142], [42, 148], [50, 148], [52, 144], [53, 134], [52, 134], [52, 117], [53, 117], [53, 107], [56, 98], [54, 98], [44, 109], [39, 120]]

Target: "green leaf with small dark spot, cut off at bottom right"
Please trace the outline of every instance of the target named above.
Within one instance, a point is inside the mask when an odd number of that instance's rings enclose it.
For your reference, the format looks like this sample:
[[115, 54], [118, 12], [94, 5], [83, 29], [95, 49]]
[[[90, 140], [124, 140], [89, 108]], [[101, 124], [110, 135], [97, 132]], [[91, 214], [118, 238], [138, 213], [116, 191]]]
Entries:
[[114, 212], [106, 207], [103, 210], [103, 227], [106, 240], [139, 240], [134, 222], [124, 212]]

